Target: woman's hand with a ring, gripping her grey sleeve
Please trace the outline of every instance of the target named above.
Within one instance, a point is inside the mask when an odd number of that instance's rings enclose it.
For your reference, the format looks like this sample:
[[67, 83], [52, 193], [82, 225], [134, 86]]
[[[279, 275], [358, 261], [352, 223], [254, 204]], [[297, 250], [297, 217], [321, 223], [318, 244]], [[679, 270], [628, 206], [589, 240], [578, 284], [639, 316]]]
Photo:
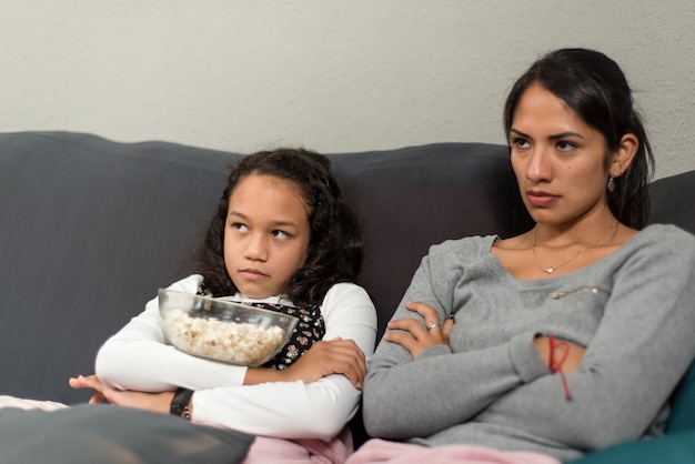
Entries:
[[454, 326], [453, 319], [447, 319], [441, 323], [436, 310], [421, 302], [406, 303], [405, 307], [420, 314], [425, 324], [423, 325], [416, 319], [391, 321], [387, 327], [393, 332], [387, 332], [384, 340], [403, 346], [410, 352], [413, 360], [430, 346], [449, 344], [449, 333]]

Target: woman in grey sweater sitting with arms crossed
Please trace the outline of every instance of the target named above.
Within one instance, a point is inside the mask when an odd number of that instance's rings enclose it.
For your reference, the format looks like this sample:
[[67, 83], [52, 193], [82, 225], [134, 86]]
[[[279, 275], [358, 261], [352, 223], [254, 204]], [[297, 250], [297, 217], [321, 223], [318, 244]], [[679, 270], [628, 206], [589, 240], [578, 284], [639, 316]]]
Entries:
[[664, 431], [695, 356], [695, 238], [645, 228], [653, 160], [625, 77], [552, 52], [504, 124], [536, 225], [431, 248], [364, 384], [366, 431], [409, 444], [350, 463], [570, 461]]

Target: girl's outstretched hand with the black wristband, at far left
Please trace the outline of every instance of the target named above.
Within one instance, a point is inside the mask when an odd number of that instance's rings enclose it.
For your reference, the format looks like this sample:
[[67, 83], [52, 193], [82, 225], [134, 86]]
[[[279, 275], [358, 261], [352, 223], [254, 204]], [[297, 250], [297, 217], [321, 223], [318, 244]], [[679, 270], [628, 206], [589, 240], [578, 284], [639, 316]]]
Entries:
[[89, 404], [108, 401], [117, 406], [138, 407], [140, 410], [169, 414], [174, 392], [144, 393], [109, 389], [97, 375], [80, 375], [69, 380], [73, 389], [92, 389], [94, 394]]

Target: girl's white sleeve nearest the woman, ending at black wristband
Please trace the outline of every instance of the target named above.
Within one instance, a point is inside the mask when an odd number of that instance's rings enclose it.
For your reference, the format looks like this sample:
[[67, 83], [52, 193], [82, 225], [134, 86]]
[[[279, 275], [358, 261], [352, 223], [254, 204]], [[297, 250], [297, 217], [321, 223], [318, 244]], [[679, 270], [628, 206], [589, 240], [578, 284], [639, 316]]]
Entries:
[[[371, 357], [376, 312], [366, 292], [354, 284], [334, 285], [322, 307], [326, 333], [352, 339]], [[193, 421], [280, 438], [335, 436], [354, 415], [361, 392], [343, 375], [318, 382], [273, 382], [197, 391]]]

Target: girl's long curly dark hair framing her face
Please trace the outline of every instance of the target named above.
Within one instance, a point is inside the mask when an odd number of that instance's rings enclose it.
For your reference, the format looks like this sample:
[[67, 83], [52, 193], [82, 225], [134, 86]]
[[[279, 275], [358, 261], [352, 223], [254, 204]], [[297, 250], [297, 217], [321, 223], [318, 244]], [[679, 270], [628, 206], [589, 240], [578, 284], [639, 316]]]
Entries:
[[330, 160], [304, 149], [280, 148], [248, 155], [229, 172], [205, 232], [200, 261], [194, 265], [194, 272], [203, 276], [204, 291], [212, 296], [238, 291], [224, 264], [224, 230], [230, 196], [239, 182], [251, 174], [293, 182], [309, 209], [306, 262], [283, 295], [294, 304], [321, 304], [332, 285], [354, 282], [364, 248], [360, 221], [331, 172]]

